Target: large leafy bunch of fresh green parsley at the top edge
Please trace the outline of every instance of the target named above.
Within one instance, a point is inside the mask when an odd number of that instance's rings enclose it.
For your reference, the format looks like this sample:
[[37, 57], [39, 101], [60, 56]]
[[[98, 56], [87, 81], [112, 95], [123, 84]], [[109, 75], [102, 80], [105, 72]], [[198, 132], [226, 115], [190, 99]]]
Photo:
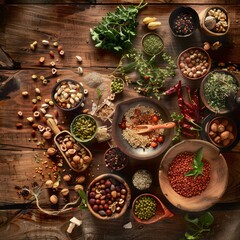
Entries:
[[146, 5], [142, 0], [138, 6], [125, 8], [120, 5], [115, 12], [107, 13], [97, 27], [90, 29], [95, 47], [117, 52], [129, 49], [136, 35], [138, 12]]

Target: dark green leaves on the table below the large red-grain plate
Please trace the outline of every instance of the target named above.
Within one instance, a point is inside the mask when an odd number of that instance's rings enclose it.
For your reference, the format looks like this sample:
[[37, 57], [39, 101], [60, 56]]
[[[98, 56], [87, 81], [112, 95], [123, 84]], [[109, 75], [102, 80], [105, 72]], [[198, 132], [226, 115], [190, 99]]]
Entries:
[[206, 235], [212, 232], [211, 226], [214, 222], [214, 217], [210, 212], [204, 212], [197, 218], [190, 218], [189, 215], [186, 214], [184, 219], [187, 222], [188, 231], [180, 240], [206, 239]]

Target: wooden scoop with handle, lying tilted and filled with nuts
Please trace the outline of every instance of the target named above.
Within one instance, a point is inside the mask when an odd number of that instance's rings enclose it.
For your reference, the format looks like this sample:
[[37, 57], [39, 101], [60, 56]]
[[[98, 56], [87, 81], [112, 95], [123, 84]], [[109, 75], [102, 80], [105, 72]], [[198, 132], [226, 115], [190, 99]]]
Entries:
[[[58, 128], [58, 126], [56, 125], [55, 121], [52, 118], [47, 119], [47, 124], [48, 126], [52, 129], [52, 131], [55, 134], [54, 137], [54, 142], [57, 146], [57, 148], [59, 149], [59, 151], [61, 152], [61, 154], [63, 155], [65, 161], [67, 162], [67, 164], [69, 165], [69, 167], [74, 170], [75, 172], [82, 172], [84, 171], [88, 165], [90, 164], [91, 160], [92, 160], [92, 153], [89, 151], [88, 148], [86, 148], [83, 144], [77, 142], [74, 137], [71, 135], [70, 132], [64, 130], [64, 131], [60, 131], [60, 129]], [[86, 155], [89, 156], [89, 161], [88, 162], [83, 162], [83, 164], [81, 165], [73, 165], [71, 162], [71, 158], [67, 157], [68, 154], [67, 151], [69, 149], [65, 148], [63, 145], [63, 140], [64, 139], [71, 139], [72, 145], [76, 145], [76, 149], [74, 147], [72, 147], [71, 149], [75, 149], [76, 153], [74, 153], [74, 155], [78, 155], [81, 156], [81, 149], [84, 149], [86, 152]], [[74, 156], [71, 155], [71, 156]], [[79, 163], [80, 164], [80, 163]]]

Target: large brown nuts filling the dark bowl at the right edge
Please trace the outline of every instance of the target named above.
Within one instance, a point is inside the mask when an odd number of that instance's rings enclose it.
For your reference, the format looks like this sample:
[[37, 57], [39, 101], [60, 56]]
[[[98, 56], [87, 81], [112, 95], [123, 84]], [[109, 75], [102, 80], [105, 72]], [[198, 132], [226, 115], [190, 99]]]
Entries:
[[209, 124], [211, 140], [218, 146], [227, 147], [235, 139], [233, 124], [227, 118], [217, 118]]

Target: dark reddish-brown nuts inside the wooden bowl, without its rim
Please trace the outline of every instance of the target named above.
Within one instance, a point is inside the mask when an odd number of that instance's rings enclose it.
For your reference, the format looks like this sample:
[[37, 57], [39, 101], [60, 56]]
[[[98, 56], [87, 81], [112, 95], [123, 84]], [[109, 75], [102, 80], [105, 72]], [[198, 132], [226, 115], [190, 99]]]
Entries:
[[116, 178], [105, 177], [90, 186], [88, 204], [101, 217], [121, 213], [126, 204], [128, 190]]

